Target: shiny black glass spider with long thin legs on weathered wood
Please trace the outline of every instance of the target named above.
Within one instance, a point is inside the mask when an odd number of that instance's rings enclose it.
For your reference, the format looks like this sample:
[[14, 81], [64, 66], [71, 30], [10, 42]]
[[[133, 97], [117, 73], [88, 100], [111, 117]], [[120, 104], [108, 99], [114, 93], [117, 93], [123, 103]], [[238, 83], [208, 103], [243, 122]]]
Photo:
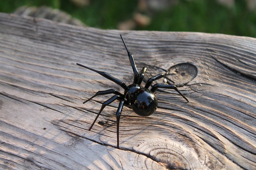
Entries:
[[[132, 70], [134, 73], [134, 79], [133, 79], [133, 83], [130, 84], [129, 86], [127, 86], [123, 81], [116, 79], [115, 77], [109, 75], [106, 72], [102, 72], [102, 71], [98, 71], [98, 70], [94, 70], [90, 67], [84, 66], [82, 64], [78, 64], [76, 63], [78, 66], [87, 68], [89, 70], [92, 70], [100, 75], [102, 75], [103, 77], [106, 77], [107, 79], [115, 82], [116, 84], [118, 84], [119, 86], [121, 86], [124, 89], [124, 94], [121, 94], [120, 92], [118, 92], [116, 89], [109, 89], [109, 90], [104, 90], [104, 91], [98, 91], [94, 96], [92, 96], [90, 99], [86, 100], [84, 103], [88, 102], [89, 100], [91, 100], [93, 97], [96, 97], [98, 95], [107, 95], [107, 94], [115, 94], [114, 96], [112, 96], [110, 99], [108, 99], [107, 101], [103, 102], [101, 109], [98, 113], [98, 115], [96, 116], [95, 120], [93, 121], [91, 127], [89, 128], [89, 131], [92, 129], [93, 124], [96, 122], [97, 118], [99, 117], [101, 111], [110, 103], [114, 102], [115, 100], [119, 100], [119, 106], [118, 109], [116, 111], [116, 129], [117, 129], [117, 148], [119, 148], [119, 121], [120, 121], [120, 115], [123, 109], [123, 106], [132, 108], [132, 110], [139, 116], [150, 116], [152, 115], [157, 108], [157, 98], [156, 95], [154, 94], [154, 92], [156, 91], [157, 88], [164, 88], [164, 89], [174, 89], [176, 90], [184, 99], [186, 99], [188, 101], [188, 99], [183, 96], [180, 91], [177, 89], [177, 87], [173, 84], [170, 84], [170, 82], [168, 82], [169, 84], [160, 84], [160, 83], [156, 83], [155, 85], [153, 85], [153, 87], [149, 90], [149, 86], [151, 85], [151, 83], [155, 80], [158, 80], [160, 78], [166, 78], [167, 80], [171, 81], [170, 79], [168, 79], [164, 74], [158, 74], [154, 77], [151, 77], [148, 79], [146, 85], [144, 86], [144, 88], [142, 86], [140, 86], [144, 74], [147, 70], [147, 67], [143, 67], [141, 72], [139, 73], [137, 70], [137, 67], [135, 65], [134, 59], [132, 54], [130, 53], [130, 51], [128, 50], [123, 36], [120, 34], [121, 39], [124, 43], [124, 46], [126, 48], [126, 51], [128, 53], [129, 56], [129, 60], [131, 62], [132, 65]], [[173, 82], [173, 81], [172, 81]], [[173, 82], [174, 83], [174, 82]]]

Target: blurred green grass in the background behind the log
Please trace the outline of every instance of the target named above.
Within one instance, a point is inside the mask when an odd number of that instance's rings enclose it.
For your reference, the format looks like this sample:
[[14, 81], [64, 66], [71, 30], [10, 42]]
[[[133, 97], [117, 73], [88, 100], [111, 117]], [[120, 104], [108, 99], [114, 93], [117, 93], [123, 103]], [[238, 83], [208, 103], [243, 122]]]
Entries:
[[[120, 22], [132, 18], [134, 12], [139, 11], [138, 1], [130, 0], [91, 0], [84, 7], [68, 0], [1, 0], [0, 12], [11, 13], [23, 5], [58, 8], [88, 26], [102, 29], [117, 29]], [[136, 30], [209, 32], [256, 37], [256, 11], [248, 10], [244, 0], [236, 0], [231, 8], [215, 0], [179, 0], [179, 3], [168, 9], [147, 10], [143, 13], [151, 18], [151, 23], [144, 27], [137, 26]]]

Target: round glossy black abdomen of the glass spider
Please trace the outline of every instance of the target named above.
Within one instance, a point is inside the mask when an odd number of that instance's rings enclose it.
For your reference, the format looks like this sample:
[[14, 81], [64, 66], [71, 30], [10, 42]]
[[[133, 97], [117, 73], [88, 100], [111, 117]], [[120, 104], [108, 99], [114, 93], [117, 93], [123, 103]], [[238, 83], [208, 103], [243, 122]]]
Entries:
[[132, 110], [139, 116], [150, 116], [157, 109], [156, 95], [146, 88], [137, 89], [132, 94]]

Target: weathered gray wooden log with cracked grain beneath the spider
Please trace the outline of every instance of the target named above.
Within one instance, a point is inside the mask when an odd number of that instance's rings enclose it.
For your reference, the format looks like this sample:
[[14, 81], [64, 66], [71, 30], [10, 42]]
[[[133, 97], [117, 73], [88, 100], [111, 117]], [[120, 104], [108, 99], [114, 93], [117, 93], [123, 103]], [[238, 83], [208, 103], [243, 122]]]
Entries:
[[[123, 89], [82, 67], [130, 84], [122, 33], [145, 81], [166, 73], [190, 100], [160, 89], [158, 109], [139, 117]], [[118, 31], [0, 14], [0, 168], [256, 169], [256, 39], [192, 32]], [[158, 82], [162, 82], [158, 81]], [[184, 86], [182, 86], [184, 84]]]

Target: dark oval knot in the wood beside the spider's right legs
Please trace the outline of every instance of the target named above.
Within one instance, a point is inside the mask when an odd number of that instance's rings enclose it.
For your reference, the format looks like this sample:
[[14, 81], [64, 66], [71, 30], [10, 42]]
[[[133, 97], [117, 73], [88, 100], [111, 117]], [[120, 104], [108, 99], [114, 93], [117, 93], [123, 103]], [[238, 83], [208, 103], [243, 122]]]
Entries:
[[173, 80], [175, 84], [187, 84], [193, 80], [197, 75], [197, 68], [190, 63], [180, 63], [172, 66], [166, 72], [166, 76]]

